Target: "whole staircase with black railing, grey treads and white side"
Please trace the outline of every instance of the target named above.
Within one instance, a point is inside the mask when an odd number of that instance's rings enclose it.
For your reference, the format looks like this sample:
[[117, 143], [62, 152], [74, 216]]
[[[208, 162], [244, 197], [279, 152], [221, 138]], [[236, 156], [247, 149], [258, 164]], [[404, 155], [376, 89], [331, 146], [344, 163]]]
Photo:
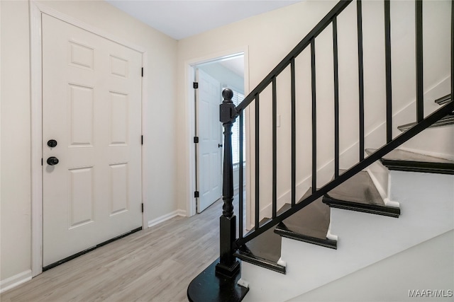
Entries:
[[[385, 143], [366, 140], [374, 135], [365, 129], [364, 66], [362, 45], [362, 3], [355, 1], [358, 21], [358, 100], [359, 127], [358, 160], [345, 168], [341, 166], [340, 150], [340, 100], [338, 73], [338, 16], [352, 1], [340, 1], [304, 37], [297, 47], [280, 62], [270, 74], [243, 100], [235, 106], [231, 102], [232, 92], [223, 91], [220, 106], [224, 132], [223, 163], [223, 213], [220, 217], [220, 258], [192, 280], [188, 287], [189, 301], [289, 301], [292, 298], [304, 300], [304, 294], [331, 284], [380, 263], [399, 252], [409, 250], [421, 243], [442, 236], [454, 230], [454, 150], [448, 156], [429, 156], [425, 152], [411, 149], [411, 141], [418, 139], [421, 132], [443, 131], [445, 141], [452, 144], [454, 138], [454, 4], [451, 1], [451, 69], [448, 79], [450, 93], [438, 95], [435, 104], [439, 107], [424, 113], [427, 90], [423, 86], [423, 2], [415, 1], [416, 28], [416, 122], [396, 127], [402, 133], [393, 134], [393, 119], [399, 120], [399, 112], [393, 112], [390, 10], [388, 0], [384, 0], [385, 65], [386, 65], [386, 117], [384, 117]], [[316, 40], [327, 28], [332, 30], [333, 40], [333, 156], [328, 164], [321, 166], [323, 149], [318, 141], [323, 134], [317, 129], [316, 86]], [[297, 57], [302, 52], [311, 59], [311, 127], [309, 135], [311, 152], [307, 161], [311, 163], [310, 176], [302, 181], [297, 179], [298, 163], [297, 135]], [[289, 74], [290, 93], [279, 102], [289, 102], [291, 129], [289, 134], [290, 169], [286, 179], [289, 192], [282, 204], [278, 198], [278, 178], [282, 168], [278, 166], [282, 148], [278, 146], [278, 76]], [[280, 78], [279, 78], [280, 79]], [[436, 91], [436, 89], [432, 89]], [[268, 96], [267, 96], [268, 95]], [[260, 107], [270, 103], [272, 115], [263, 117]], [[322, 105], [323, 107], [323, 105]], [[231, 127], [237, 118], [240, 122], [240, 147], [243, 150], [244, 111], [250, 108], [255, 124], [251, 125], [253, 141], [250, 146], [250, 174], [253, 175], [250, 196], [253, 199], [253, 219], [245, 221], [243, 216], [244, 192], [240, 186], [238, 196], [238, 223], [233, 215], [233, 168], [231, 153]], [[402, 110], [404, 111], [404, 110]], [[270, 133], [264, 136], [260, 120], [270, 119]], [[378, 128], [377, 128], [378, 129]], [[323, 130], [323, 129], [322, 129]], [[394, 131], [395, 132], [395, 131]], [[323, 132], [322, 132], [323, 133]], [[372, 133], [372, 132], [371, 132]], [[422, 134], [423, 134], [422, 133]], [[448, 133], [446, 135], [446, 133]], [[279, 132], [280, 134], [280, 132]], [[270, 177], [260, 170], [260, 157], [263, 150], [261, 140], [269, 140], [272, 146], [270, 156]], [[379, 139], [380, 140], [380, 139]], [[407, 146], [406, 144], [409, 144]], [[448, 148], [449, 149], [449, 148]], [[445, 154], [446, 155], [446, 154]], [[285, 156], [284, 156], [285, 157]], [[240, 162], [243, 161], [240, 152]], [[304, 166], [304, 165], [303, 165]], [[325, 179], [328, 167], [331, 180]], [[266, 170], [266, 169], [265, 169]], [[243, 183], [243, 166], [239, 170], [240, 183]], [[263, 179], [271, 180], [270, 188]], [[306, 185], [304, 194], [301, 187]], [[265, 182], [269, 183], [269, 182]], [[282, 185], [282, 182], [279, 182]], [[264, 187], [265, 186], [265, 187]], [[268, 190], [268, 191], [267, 191]], [[270, 192], [263, 194], [263, 192]], [[297, 196], [301, 194], [301, 196]], [[270, 201], [270, 204], [267, 203]], [[264, 208], [270, 206], [270, 214], [263, 215]], [[244, 233], [248, 231], [247, 233]], [[443, 284], [443, 282], [441, 283]], [[448, 283], [449, 285], [449, 283]], [[354, 284], [353, 284], [354, 286]], [[352, 293], [353, 294], [353, 293]], [[303, 296], [301, 296], [303, 295]], [[452, 289], [451, 289], [452, 295]], [[380, 299], [379, 299], [380, 300]], [[295, 300], [299, 301], [299, 300]]]

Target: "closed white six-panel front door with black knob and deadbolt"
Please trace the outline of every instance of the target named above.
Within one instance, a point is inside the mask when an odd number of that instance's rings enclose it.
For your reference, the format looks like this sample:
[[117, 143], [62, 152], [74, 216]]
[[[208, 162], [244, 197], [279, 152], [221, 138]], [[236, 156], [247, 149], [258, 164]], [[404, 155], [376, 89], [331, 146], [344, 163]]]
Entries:
[[44, 267], [142, 226], [141, 67], [43, 14]]

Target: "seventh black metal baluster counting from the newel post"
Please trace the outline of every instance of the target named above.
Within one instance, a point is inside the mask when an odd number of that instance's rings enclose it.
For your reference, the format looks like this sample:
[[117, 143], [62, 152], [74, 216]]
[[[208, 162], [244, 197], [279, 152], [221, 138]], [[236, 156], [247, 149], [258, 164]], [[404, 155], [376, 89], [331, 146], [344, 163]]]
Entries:
[[360, 98], [360, 161], [364, 159], [364, 71], [362, 59], [362, 4], [356, 2], [356, 16], [358, 25], [358, 80]]

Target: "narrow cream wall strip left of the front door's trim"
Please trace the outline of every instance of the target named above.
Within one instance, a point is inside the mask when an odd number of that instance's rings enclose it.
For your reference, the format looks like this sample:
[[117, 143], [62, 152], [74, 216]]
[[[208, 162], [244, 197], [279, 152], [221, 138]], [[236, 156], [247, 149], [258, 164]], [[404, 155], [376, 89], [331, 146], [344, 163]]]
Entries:
[[1, 1], [1, 270], [31, 268], [28, 3]]

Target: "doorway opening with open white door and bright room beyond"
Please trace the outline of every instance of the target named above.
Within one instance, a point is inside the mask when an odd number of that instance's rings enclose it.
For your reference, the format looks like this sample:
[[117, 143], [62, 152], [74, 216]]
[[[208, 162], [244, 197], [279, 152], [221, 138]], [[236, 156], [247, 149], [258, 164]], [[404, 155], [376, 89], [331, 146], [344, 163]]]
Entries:
[[[243, 100], [245, 96], [244, 55], [244, 53], [233, 54], [192, 65], [196, 213], [201, 213], [222, 197], [223, 127], [219, 122], [219, 105], [223, 100], [221, 93], [225, 88], [233, 91], [235, 105]], [[237, 121], [232, 129], [233, 175], [236, 191], [240, 185], [238, 183], [240, 165], [238, 132]], [[245, 165], [245, 162], [242, 164]]]

